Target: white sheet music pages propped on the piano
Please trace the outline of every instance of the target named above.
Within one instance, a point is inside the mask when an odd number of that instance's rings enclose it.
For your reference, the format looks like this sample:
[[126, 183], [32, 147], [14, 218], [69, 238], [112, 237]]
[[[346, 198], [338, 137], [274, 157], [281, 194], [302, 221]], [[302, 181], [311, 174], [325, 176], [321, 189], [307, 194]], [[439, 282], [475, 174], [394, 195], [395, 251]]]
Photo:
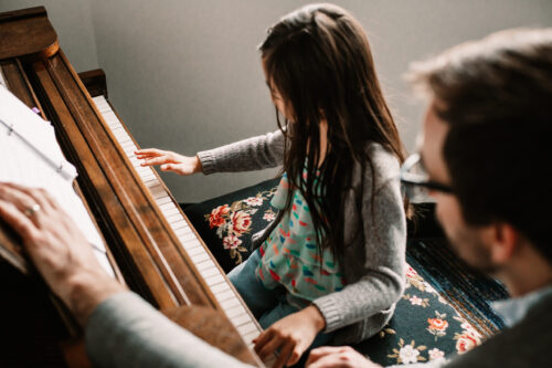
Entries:
[[76, 169], [63, 157], [52, 125], [2, 86], [0, 120], [0, 181], [46, 189], [83, 231], [102, 266], [115, 276], [104, 242], [73, 189]]

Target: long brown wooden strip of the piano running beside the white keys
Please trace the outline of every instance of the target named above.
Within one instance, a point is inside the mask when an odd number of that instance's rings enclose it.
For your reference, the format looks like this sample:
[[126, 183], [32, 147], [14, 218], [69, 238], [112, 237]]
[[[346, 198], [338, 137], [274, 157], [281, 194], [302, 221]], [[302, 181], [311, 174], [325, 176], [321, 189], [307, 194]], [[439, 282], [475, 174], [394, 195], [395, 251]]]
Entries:
[[[72, 73], [72, 67], [63, 53], [60, 52], [45, 64], [50, 75], [57, 84], [59, 91], [62, 94], [66, 93], [65, 99], [71, 96], [72, 101], [67, 106], [72, 109], [73, 116], [76, 117], [75, 122], [96, 154], [96, 159], [100, 162], [104, 172], [109, 177], [109, 182], [128, 217], [144, 236], [142, 239], [151, 242], [150, 246], [156, 246], [160, 252], [159, 259], [166, 262], [167, 269], [173, 273], [173, 277], [178, 282], [177, 286], [184, 290], [189, 298], [188, 303], [217, 307], [216, 299], [203, 284], [203, 278], [195, 271], [193, 262], [188, 257], [188, 254], [181, 252], [178, 239], [162, 217], [149, 190], [134, 171], [130, 161], [119, 148], [113, 134], [106, 128], [95, 104], [89, 96], [83, 94], [84, 86], [79, 85], [81, 81], [74, 72]], [[68, 82], [71, 78], [73, 78], [73, 83]], [[161, 263], [158, 265], [162, 267]]]

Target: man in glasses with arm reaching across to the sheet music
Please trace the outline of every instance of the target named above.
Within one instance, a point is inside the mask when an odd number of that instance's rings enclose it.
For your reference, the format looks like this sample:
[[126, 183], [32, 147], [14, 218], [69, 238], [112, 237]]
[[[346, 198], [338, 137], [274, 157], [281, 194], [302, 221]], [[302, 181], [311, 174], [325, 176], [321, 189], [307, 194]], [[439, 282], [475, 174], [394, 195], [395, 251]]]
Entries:
[[[405, 162], [403, 181], [411, 190], [428, 190], [459, 256], [502, 280], [512, 295], [497, 306], [511, 327], [445, 366], [548, 366], [552, 196], [544, 178], [552, 171], [552, 30], [498, 33], [412, 74], [431, 104], [421, 160]], [[100, 272], [71, 219], [40, 190], [0, 185], [0, 217], [22, 235], [44, 280], [86, 327], [98, 366], [243, 366]], [[308, 364], [378, 367], [346, 347], [316, 349]]]

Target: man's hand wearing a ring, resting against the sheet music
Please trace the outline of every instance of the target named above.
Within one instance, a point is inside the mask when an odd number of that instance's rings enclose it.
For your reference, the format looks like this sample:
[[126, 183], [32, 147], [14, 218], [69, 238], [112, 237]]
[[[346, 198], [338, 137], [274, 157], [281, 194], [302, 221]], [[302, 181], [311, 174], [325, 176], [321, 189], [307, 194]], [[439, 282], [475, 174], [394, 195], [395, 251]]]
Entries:
[[125, 290], [103, 271], [84, 234], [45, 190], [0, 183], [0, 218], [21, 235], [46, 284], [83, 325], [99, 303]]

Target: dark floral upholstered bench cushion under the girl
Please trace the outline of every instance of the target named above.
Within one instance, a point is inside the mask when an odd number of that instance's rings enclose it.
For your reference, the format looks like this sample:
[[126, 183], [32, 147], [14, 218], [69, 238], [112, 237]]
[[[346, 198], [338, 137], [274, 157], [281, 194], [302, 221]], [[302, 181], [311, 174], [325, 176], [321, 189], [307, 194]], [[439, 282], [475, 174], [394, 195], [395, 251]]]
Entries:
[[[274, 220], [270, 199], [278, 181], [267, 180], [184, 209], [226, 273], [251, 254], [251, 235]], [[389, 366], [448, 358], [481, 343], [480, 333], [416, 270], [408, 266], [405, 277], [406, 290], [391, 322], [355, 349]]]

